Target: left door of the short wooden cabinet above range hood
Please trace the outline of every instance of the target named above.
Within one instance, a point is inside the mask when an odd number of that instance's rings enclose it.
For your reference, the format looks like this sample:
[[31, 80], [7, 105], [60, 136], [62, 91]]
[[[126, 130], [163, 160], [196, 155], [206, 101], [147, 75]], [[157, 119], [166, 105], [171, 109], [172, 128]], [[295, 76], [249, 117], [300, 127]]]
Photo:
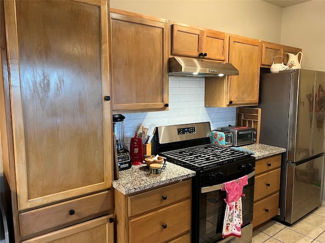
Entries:
[[172, 54], [199, 57], [203, 30], [173, 24]]

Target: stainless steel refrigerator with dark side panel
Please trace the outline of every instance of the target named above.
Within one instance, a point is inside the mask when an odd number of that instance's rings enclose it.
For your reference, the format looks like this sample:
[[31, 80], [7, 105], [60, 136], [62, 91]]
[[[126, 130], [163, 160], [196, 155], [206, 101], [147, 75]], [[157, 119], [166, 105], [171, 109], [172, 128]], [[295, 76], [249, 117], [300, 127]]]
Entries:
[[261, 74], [259, 143], [282, 155], [279, 220], [293, 224], [320, 205], [324, 171], [325, 72]]

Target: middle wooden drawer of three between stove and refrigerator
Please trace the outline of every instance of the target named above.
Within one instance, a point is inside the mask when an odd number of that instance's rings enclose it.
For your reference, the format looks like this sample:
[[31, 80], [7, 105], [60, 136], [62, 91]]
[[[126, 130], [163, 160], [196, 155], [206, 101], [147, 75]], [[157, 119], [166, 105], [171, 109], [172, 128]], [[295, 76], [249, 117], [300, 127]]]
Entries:
[[254, 201], [278, 191], [280, 188], [280, 168], [255, 177]]

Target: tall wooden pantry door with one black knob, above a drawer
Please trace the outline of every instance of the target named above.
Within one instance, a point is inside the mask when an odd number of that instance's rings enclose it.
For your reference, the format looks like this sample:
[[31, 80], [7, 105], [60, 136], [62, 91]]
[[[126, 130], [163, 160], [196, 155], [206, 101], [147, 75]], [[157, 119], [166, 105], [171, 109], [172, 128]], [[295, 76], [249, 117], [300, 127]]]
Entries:
[[111, 186], [107, 13], [5, 1], [19, 210]]

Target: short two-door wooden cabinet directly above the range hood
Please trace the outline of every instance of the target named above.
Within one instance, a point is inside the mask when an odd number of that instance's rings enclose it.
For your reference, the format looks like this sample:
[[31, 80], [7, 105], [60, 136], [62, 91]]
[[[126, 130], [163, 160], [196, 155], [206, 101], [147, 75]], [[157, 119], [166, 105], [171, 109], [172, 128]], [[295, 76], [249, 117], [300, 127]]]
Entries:
[[[172, 24], [172, 54], [226, 60], [225, 33], [189, 25]], [[200, 55], [201, 54], [201, 55]]]

